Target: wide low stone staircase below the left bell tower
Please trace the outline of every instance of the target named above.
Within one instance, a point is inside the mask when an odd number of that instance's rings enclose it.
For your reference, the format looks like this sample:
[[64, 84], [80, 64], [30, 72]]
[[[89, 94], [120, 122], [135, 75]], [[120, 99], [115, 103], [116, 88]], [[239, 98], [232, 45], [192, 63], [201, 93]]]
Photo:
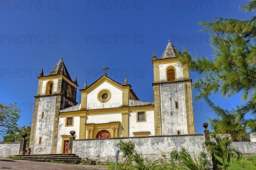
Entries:
[[8, 159], [67, 164], [79, 164], [81, 162], [81, 158], [79, 158], [79, 156], [76, 156], [76, 154], [74, 153], [46, 155], [15, 155], [9, 156]]

